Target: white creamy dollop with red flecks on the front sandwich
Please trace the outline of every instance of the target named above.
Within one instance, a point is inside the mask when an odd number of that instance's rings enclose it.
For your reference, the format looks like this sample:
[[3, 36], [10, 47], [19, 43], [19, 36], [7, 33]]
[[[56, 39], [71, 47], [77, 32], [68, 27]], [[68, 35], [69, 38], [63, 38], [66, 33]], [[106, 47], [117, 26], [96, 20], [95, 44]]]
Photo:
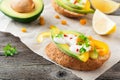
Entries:
[[86, 52], [91, 50], [91, 46], [86, 47], [84, 44], [83, 45], [77, 45], [77, 36], [73, 34], [64, 34], [62, 37], [54, 37], [53, 39], [56, 43], [60, 44], [68, 44], [69, 45], [69, 50], [72, 51], [75, 54], [81, 54], [80, 49], [84, 48], [86, 49]]

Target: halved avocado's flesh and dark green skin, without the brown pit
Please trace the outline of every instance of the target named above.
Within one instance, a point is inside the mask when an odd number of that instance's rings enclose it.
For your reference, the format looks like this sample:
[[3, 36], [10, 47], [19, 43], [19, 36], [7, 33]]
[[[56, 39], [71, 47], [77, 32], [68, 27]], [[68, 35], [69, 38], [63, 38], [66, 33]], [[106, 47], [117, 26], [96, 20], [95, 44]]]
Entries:
[[44, 4], [42, 0], [33, 0], [33, 2], [35, 4], [35, 9], [29, 13], [19, 13], [14, 11], [10, 5], [11, 0], [2, 0], [0, 2], [0, 10], [6, 16], [12, 18], [13, 20], [22, 23], [29, 23], [36, 20], [44, 9]]

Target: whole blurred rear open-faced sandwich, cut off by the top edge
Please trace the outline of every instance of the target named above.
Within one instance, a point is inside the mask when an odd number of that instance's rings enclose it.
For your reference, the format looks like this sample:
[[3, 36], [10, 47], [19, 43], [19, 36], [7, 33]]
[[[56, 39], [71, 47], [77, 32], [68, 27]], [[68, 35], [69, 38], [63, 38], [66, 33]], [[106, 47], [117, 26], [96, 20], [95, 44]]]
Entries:
[[80, 17], [93, 13], [89, 0], [52, 0], [54, 9], [67, 17]]

